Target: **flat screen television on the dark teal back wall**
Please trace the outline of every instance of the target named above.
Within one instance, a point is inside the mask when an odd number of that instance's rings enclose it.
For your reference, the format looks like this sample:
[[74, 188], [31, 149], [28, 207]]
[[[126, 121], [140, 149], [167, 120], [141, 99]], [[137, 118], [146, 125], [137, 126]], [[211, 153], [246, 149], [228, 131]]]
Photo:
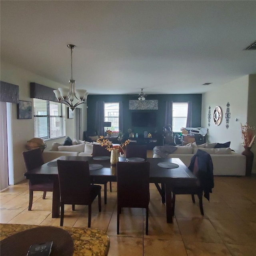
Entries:
[[137, 127], [155, 127], [155, 112], [132, 112], [132, 126]]

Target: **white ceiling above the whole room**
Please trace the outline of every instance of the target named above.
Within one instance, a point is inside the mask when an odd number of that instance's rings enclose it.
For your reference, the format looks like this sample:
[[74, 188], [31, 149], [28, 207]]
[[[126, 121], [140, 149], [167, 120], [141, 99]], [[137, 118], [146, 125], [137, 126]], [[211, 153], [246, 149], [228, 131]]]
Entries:
[[244, 50], [256, 40], [256, 1], [0, 5], [1, 60], [68, 85], [75, 44], [73, 78], [90, 94], [203, 93], [256, 74], [256, 51]]

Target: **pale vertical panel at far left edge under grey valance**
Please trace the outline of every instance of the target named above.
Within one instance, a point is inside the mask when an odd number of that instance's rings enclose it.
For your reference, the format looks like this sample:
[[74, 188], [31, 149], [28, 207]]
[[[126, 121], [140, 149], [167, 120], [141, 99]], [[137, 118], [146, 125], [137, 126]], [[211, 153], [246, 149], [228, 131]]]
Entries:
[[6, 102], [0, 102], [0, 190], [9, 186]]

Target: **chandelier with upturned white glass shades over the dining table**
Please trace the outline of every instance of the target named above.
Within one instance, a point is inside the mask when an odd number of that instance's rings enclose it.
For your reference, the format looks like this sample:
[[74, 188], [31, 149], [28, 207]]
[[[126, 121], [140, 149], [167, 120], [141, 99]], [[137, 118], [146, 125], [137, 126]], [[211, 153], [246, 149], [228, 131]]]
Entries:
[[[73, 49], [76, 48], [74, 44], [68, 44], [68, 48], [71, 50], [71, 78], [68, 80], [70, 87], [68, 88], [58, 88], [58, 90], [53, 90], [58, 102], [64, 103], [74, 110], [79, 104], [86, 103], [88, 92], [84, 89], [75, 90], [75, 80], [73, 79], [73, 67], [72, 67], [72, 53]], [[73, 101], [77, 99], [78, 102], [73, 105]]]

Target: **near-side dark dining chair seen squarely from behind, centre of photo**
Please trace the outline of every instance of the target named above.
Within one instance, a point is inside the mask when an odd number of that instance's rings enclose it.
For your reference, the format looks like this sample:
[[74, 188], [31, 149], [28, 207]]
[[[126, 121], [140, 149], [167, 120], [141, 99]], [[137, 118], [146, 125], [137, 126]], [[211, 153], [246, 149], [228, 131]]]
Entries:
[[117, 234], [121, 209], [146, 208], [148, 235], [149, 162], [117, 162]]

